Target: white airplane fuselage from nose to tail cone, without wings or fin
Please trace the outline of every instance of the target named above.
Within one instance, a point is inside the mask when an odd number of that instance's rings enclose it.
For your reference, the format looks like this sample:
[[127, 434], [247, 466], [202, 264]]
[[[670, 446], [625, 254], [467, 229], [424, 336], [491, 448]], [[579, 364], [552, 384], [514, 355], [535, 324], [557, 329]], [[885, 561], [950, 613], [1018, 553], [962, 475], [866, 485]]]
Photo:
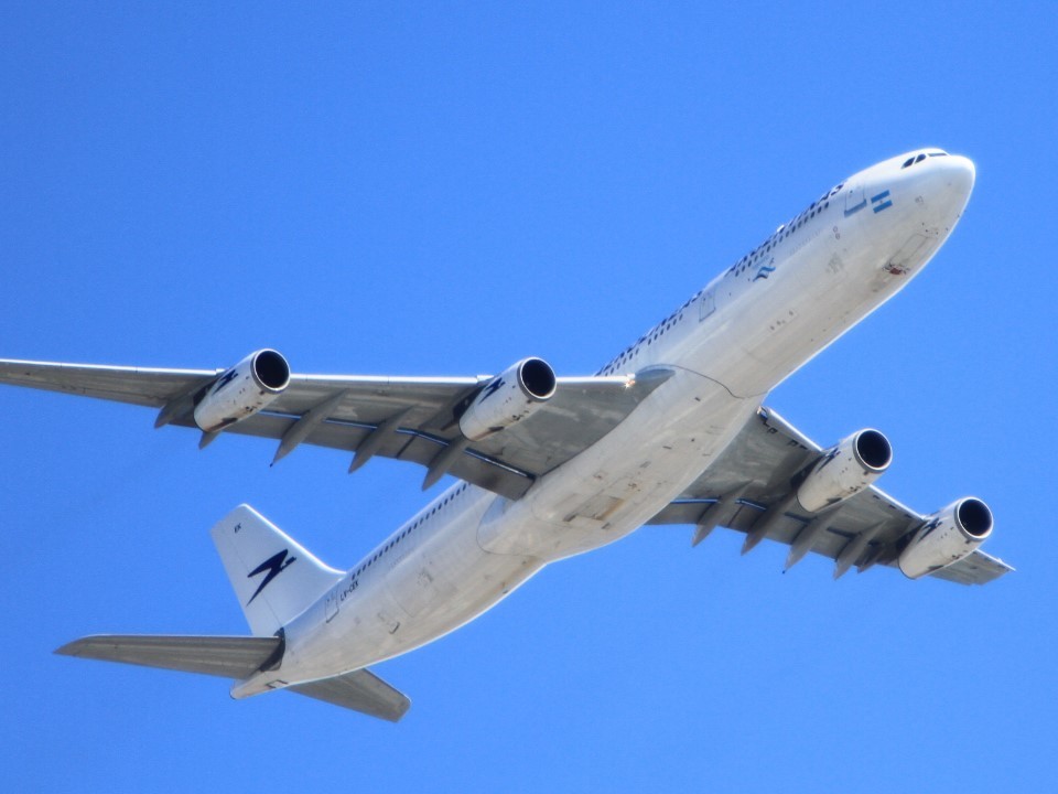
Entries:
[[[618, 540], [678, 497], [764, 396], [898, 292], [961, 216], [973, 164], [936, 150], [862, 171], [607, 364], [674, 374], [518, 501], [465, 483], [397, 529], [284, 627], [246, 697], [339, 675], [435, 640], [548, 562]], [[933, 153], [928, 153], [933, 152]]]

